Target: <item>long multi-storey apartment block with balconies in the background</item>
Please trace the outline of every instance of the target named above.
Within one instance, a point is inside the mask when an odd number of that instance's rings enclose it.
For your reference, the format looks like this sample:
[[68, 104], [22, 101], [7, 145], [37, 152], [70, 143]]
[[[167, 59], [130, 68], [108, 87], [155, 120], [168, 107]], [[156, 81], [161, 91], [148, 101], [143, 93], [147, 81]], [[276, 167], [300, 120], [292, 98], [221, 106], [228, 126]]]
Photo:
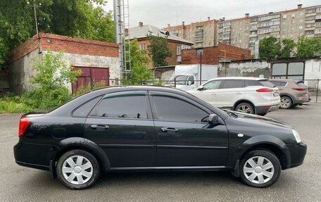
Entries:
[[213, 46], [218, 43], [231, 44], [254, 51], [255, 44], [267, 36], [282, 39], [298, 40], [303, 34], [306, 37], [321, 37], [321, 5], [302, 7], [250, 16], [233, 20], [208, 20], [165, 28], [170, 34], [194, 42], [194, 47]]

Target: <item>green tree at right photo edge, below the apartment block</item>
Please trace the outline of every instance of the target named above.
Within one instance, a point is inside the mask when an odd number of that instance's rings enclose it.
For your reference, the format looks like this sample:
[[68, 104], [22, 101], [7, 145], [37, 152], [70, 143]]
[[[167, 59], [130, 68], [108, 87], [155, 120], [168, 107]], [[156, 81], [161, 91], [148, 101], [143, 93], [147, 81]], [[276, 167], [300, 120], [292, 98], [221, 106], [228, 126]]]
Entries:
[[306, 38], [302, 36], [298, 39], [296, 57], [321, 56], [321, 38]]

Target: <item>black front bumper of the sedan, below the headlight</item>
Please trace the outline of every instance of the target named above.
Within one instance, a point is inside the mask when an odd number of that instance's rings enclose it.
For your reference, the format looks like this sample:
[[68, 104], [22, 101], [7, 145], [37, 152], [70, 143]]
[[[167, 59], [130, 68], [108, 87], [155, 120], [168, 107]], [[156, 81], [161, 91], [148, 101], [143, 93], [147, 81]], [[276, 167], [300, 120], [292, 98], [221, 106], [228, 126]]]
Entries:
[[[304, 142], [297, 144], [288, 144], [287, 148], [289, 149], [290, 154], [290, 164], [287, 165], [287, 168], [294, 168], [303, 163], [304, 158], [306, 157], [306, 151], [308, 146]], [[285, 168], [285, 169], [287, 169]]]

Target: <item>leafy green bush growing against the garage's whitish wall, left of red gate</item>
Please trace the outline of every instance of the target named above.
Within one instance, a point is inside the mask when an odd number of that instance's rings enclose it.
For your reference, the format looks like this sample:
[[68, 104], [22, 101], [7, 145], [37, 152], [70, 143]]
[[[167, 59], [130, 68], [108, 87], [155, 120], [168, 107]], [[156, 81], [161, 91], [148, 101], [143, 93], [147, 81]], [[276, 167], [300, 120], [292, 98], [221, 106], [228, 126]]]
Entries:
[[72, 98], [66, 83], [75, 82], [81, 70], [73, 71], [62, 59], [63, 53], [46, 53], [42, 62], [34, 65], [35, 76], [30, 80], [34, 84], [25, 96], [25, 103], [32, 108], [50, 109]]

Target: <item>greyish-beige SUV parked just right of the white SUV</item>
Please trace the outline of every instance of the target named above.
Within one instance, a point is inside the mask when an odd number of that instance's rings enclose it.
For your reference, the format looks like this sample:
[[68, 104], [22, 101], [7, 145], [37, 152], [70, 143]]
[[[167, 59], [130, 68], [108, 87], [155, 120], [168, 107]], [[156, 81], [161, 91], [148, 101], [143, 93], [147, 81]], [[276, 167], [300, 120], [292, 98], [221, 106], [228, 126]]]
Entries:
[[279, 88], [280, 108], [295, 107], [311, 100], [311, 95], [303, 81], [271, 79], [270, 82]]

